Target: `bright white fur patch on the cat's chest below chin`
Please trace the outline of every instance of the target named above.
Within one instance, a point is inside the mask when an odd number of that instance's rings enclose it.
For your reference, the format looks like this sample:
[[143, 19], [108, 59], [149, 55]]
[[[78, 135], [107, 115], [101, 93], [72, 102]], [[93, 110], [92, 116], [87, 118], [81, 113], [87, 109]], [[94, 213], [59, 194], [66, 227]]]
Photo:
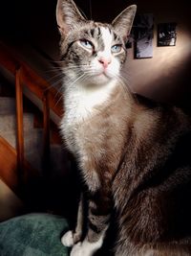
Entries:
[[100, 109], [116, 86], [117, 81], [113, 80], [98, 88], [91, 86], [87, 88], [75, 84], [75, 88], [66, 89], [65, 113], [61, 121], [61, 131], [71, 151], [79, 150], [79, 141], [81, 142], [82, 139], [81, 135], [78, 135], [80, 124], [87, 122], [90, 117], [97, 114], [96, 106]]

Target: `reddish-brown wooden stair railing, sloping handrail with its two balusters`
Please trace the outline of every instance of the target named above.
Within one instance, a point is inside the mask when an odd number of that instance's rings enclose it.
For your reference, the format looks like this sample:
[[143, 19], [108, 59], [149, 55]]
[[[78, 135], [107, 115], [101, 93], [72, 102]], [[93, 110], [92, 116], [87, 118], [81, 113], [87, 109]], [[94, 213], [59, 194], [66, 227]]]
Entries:
[[[18, 178], [24, 178], [24, 128], [23, 128], [23, 88], [28, 89], [41, 101], [43, 105], [43, 159], [50, 159], [50, 110], [59, 118], [63, 113], [62, 104], [55, 104], [57, 90], [45, 81], [32, 68], [11, 50], [0, 42], [0, 65], [15, 78], [16, 91], [16, 121], [17, 121], [17, 166]], [[60, 95], [59, 95], [60, 97]]]

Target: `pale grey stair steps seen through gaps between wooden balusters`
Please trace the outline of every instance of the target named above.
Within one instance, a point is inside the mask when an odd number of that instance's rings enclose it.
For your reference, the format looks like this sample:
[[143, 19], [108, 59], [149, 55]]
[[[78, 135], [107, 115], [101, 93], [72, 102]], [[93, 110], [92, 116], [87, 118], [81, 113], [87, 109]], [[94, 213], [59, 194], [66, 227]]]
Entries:
[[[34, 128], [34, 115], [25, 112], [24, 122], [24, 151], [25, 159], [35, 170], [42, 171], [42, 128]], [[15, 99], [11, 97], [0, 97], [0, 136], [5, 138], [11, 147], [16, 149], [16, 116]], [[53, 172], [60, 172], [62, 163], [62, 146], [51, 144], [51, 164]]]

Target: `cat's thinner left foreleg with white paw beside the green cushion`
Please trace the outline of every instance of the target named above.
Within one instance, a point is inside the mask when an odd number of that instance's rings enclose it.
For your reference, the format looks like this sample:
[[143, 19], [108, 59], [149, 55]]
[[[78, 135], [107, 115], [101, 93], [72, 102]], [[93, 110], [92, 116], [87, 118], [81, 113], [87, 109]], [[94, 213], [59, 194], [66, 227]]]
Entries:
[[84, 221], [84, 205], [83, 204], [84, 204], [84, 198], [83, 198], [83, 194], [81, 193], [80, 201], [78, 205], [75, 229], [69, 230], [61, 238], [62, 244], [64, 244], [67, 247], [72, 247], [74, 246], [74, 244], [78, 243], [81, 240], [82, 230], [83, 230], [83, 221]]

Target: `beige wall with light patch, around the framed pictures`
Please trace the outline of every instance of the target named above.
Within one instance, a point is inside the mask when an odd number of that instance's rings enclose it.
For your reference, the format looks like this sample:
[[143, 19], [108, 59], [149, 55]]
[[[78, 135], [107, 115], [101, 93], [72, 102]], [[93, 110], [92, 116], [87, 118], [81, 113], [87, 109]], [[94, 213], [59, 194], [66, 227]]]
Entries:
[[[188, 106], [191, 96], [191, 27], [188, 4], [169, 0], [137, 2], [139, 13], [153, 12], [155, 27], [153, 58], [135, 59], [133, 49], [129, 50], [126, 68], [130, 74], [132, 89], [159, 101]], [[178, 23], [176, 46], [157, 47], [157, 24], [160, 22]]]

